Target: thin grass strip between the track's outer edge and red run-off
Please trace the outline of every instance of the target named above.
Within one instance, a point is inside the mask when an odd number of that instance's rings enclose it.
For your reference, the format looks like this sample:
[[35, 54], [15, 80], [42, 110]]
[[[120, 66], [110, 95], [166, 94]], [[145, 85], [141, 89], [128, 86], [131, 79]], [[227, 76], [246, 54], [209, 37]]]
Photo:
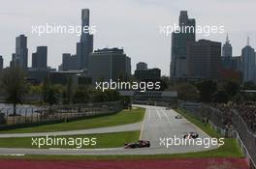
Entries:
[[205, 157], [243, 157], [235, 139], [225, 139], [225, 145], [211, 151], [174, 154], [174, 155], [0, 155], [2, 159], [48, 159], [48, 160], [119, 160], [119, 159], [173, 159], [173, 158], [205, 158]]

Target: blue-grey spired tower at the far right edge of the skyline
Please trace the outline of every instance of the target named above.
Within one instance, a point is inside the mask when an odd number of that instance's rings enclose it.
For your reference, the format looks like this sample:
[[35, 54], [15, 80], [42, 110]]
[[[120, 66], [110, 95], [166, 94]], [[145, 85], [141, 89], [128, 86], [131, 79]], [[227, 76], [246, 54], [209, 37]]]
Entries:
[[241, 50], [241, 67], [242, 67], [242, 81], [256, 81], [256, 56], [255, 50], [249, 44], [249, 38], [247, 45]]

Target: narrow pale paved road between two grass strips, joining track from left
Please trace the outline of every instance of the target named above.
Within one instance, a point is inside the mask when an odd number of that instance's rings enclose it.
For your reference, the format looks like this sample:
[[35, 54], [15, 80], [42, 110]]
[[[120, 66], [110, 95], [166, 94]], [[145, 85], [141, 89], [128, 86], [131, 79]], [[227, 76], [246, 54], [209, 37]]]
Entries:
[[136, 123], [136, 124], [130, 124], [130, 125], [116, 126], [116, 127], [98, 127], [98, 128], [91, 128], [91, 129], [80, 129], [80, 130], [69, 130], [69, 131], [0, 134], [0, 138], [122, 132], [122, 131], [141, 130], [141, 128], [142, 128], [142, 123]]

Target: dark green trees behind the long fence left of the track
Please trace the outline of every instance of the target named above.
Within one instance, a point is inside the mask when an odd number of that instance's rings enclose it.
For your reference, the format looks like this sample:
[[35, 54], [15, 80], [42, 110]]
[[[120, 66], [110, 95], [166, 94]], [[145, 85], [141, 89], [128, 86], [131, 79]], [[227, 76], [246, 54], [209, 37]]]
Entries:
[[105, 92], [97, 91], [92, 86], [74, 87], [72, 78], [64, 85], [52, 84], [48, 76], [40, 85], [32, 85], [26, 81], [25, 72], [16, 67], [3, 70], [0, 76], [0, 93], [6, 97], [6, 102], [14, 106], [16, 115], [16, 104], [24, 103], [26, 94], [42, 96], [40, 104], [77, 104], [87, 102], [104, 102], [120, 100], [119, 93], [114, 90]]

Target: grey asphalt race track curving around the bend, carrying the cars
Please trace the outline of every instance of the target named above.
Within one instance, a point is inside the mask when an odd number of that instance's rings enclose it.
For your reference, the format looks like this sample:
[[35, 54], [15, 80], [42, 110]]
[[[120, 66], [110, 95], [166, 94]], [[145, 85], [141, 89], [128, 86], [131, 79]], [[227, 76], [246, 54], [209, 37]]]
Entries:
[[[199, 133], [202, 139], [209, 138], [208, 134], [194, 126], [186, 119], [176, 119], [175, 110], [166, 110], [165, 107], [137, 105], [145, 108], [144, 122], [141, 130], [141, 139], [149, 140], [150, 148], [141, 149], [13, 149], [0, 148], [0, 155], [163, 155], [202, 152], [216, 149], [216, 146], [205, 148], [204, 145], [164, 145], [160, 138], [175, 137], [182, 139], [190, 131]], [[115, 127], [116, 129], [118, 127]], [[99, 128], [98, 128], [99, 129]], [[97, 128], [95, 128], [96, 132]], [[117, 130], [116, 130], [117, 131]], [[114, 129], [112, 129], [114, 132]], [[93, 133], [93, 131], [91, 132]], [[98, 132], [100, 133], [100, 132]], [[161, 144], [160, 144], [161, 143]], [[169, 139], [170, 143], [170, 139]]]

